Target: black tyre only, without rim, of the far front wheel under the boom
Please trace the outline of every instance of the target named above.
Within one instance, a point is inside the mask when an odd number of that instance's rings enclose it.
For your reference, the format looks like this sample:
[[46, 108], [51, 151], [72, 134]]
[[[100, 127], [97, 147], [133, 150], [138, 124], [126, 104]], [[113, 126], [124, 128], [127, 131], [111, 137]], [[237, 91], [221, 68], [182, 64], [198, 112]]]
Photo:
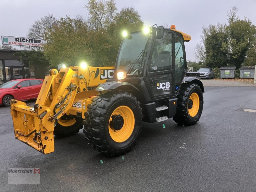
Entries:
[[80, 129], [83, 128], [82, 120], [76, 118], [76, 123], [66, 127], [59, 123], [56, 124], [54, 127], [53, 134], [57, 137], [68, 137], [71, 135], [74, 135], [75, 133], [78, 133]]

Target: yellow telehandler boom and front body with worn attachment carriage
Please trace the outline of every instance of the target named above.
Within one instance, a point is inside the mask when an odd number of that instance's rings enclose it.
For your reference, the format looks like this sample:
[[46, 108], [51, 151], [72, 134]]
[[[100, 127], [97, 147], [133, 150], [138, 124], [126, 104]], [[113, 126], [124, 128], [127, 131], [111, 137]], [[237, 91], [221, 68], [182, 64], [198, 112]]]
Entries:
[[15, 138], [47, 154], [54, 151], [54, 124], [64, 115], [84, 118], [87, 105], [99, 92], [95, 88], [113, 77], [114, 67], [70, 67], [46, 76], [34, 108], [12, 100]]

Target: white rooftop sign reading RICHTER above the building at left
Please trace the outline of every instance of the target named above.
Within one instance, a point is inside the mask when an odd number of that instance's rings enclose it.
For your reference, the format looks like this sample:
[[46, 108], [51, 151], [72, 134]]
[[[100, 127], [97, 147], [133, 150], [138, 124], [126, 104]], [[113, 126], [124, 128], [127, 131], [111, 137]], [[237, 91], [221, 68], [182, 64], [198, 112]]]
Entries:
[[42, 47], [42, 44], [47, 43], [43, 39], [33, 39], [26, 37], [13, 37], [13, 36], [2, 36], [3, 45], [21, 45], [31, 47]]

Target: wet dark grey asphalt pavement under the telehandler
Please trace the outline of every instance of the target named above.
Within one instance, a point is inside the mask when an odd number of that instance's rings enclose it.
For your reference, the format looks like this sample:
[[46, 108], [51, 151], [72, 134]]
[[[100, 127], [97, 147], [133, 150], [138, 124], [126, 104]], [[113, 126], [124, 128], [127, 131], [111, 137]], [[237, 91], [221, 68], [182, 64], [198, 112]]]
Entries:
[[[256, 109], [255, 87], [205, 87], [197, 124], [143, 123], [137, 145], [109, 157], [82, 130], [43, 155], [14, 139], [10, 108], [0, 106], [0, 191], [255, 192], [256, 113], [241, 108]], [[7, 168], [40, 168], [40, 185], [7, 185]]]

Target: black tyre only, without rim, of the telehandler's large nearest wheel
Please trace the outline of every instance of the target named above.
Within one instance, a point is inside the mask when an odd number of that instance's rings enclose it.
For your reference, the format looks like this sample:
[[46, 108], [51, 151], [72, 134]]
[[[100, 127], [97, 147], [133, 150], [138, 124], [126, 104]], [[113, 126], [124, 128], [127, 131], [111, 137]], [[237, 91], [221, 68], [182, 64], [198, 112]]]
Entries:
[[[134, 127], [131, 135], [123, 142], [116, 142], [109, 133], [109, 122], [113, 111], [120, 106], [127, 106], [134, 115]], [[83, 121], [87, 142], [99, 152], [109, 156], [120, 156], [129, 151], [139, 138], [142, 130], [142, 109], [140, 102], [131, 93], [109, 91], [99, 94], [87, 106]], [[113, 117], [113, 116], [112, 116]], [[111, 117], [111, 118], [112, 118]], [[127, 121], [129, 122], [129, 121]], [[122, 127], [123, 129], [124, 127]], [[114, 130], [115, 131], [115, 130]]]

